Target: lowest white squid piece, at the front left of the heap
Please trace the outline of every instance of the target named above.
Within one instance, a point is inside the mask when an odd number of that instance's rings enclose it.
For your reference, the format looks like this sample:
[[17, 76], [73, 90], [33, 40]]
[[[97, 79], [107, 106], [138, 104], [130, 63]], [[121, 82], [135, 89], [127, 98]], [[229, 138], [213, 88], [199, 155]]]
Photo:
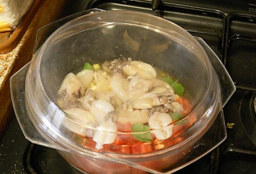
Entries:
[[114, 143], [117, 138], [117, 125], [114, 124], [111, 119], [103, 122], [100, 126], [96, 127], [97, 131], [93, 136], [93, 141], [97, 144], [95, 148], [102, 149], [104, 144]]

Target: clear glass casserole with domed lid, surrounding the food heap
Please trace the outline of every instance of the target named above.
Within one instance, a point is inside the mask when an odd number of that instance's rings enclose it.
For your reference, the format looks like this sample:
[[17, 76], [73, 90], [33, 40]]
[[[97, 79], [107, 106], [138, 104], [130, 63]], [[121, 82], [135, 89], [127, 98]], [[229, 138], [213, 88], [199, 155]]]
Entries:
[[[75, 19], [70, 21], [72, 18]], [[47, 35], [43, 43], [43, 36]], [[11, 77], [14, 111], [29, 141], [57, 149], [78, 170], [173, 173], [225, 140], [222, 108], [235, 86], [213, 50], [176, 24], [145, 13], [92, 9], [51, 23], [41, 29], [37, 39], [31, 62]], [[178, 121], [193, 121], [181, 134], [132, 147], [104, 144], [100, 150], [91, 138], [80, 136], [66, 126], [69, 121], [79, 130], [95, 131], [95, 127], [82, 124], [59, 107], [58, 89], [65, 75], [79, 72], [85, 62], [97, 64], [120, 55], [159, 67], [185, 87], [191, 95], [192, 109]], [[217, 128], [212, 126], [216, 118], [220, 120]], [[204, 137], [212, 138], [215, 129], [220, 132], [215, 140], [196, 145]], [[149, 133], [154, 134], [152, 130]], [[197, 151], [193, 152], [195, 145]], [[154, 150], [144, 153], [142, 146]], [[122, 151], [124, 148], [129, 149], [128, 153]]]

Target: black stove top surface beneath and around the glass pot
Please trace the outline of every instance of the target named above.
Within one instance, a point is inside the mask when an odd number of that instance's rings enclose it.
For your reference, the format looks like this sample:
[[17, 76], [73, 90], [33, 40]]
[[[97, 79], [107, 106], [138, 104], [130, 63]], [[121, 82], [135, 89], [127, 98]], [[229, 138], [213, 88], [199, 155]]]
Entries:
[[[156, 4], [158, 1], [154, 1]], [[225, 105], [228, 138], [208, 155], [176, 174], [255, 173], [256, 168], [256, 2], [164, 1], [152, 10], [151, 1], [85, 1], [84, 9], [130, 10], [151, 13], [203, 38], [227, 68], [237, 90]], [[218, 120], [216, 121], [218, 124]], [[78, 174], [51, 148], [29, 143], [14, 116], [0, 147], [1, 173]]]

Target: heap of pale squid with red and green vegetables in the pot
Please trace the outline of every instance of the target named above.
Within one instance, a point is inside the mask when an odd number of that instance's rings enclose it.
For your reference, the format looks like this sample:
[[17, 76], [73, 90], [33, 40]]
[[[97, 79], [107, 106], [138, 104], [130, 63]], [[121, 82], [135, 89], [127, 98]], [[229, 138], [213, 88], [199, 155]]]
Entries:
[[[58, 90], [58, 105], [67, 117], [87, 124], [85, 128], [65, 119], [65, 127], [93, 142], [89, 148], [103, 151], [107, 146], [173, 140], [196, 121], [194, 116], [183, 124], [192, 108], [185, 93], [183, 85], [166, 72], [121, 57], [102, 65], [86, 62], [78, 74], [66, 75]], [[131, 148], [121, 152], [132, 153]]]

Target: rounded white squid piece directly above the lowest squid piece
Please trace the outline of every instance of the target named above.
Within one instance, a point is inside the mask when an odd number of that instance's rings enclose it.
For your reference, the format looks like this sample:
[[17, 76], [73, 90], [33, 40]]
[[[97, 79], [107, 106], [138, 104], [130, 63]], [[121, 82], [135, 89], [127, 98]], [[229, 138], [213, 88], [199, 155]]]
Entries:
[[110, 112], [114, 112], [114, 107], [105, 99], [94, 100], [90, 107], [90, 113], [95, 116], [97, 124], [102, 124], [105, 121], [105, 116]]

